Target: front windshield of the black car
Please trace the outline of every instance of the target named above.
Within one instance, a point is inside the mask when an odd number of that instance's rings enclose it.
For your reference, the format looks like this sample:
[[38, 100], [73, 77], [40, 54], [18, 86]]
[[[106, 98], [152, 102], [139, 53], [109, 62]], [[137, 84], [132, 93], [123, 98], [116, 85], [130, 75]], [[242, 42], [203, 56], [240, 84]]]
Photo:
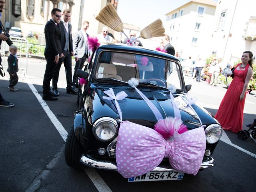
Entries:
[[179, 65], [164, 58], [102, 51], [95, 68], [94, 75], [97, 80], [116, 79], [128, 82], [130, 78], [136, 78], [144, 84], [166, 87], [174, 85], [177, 89], [183, 88]]

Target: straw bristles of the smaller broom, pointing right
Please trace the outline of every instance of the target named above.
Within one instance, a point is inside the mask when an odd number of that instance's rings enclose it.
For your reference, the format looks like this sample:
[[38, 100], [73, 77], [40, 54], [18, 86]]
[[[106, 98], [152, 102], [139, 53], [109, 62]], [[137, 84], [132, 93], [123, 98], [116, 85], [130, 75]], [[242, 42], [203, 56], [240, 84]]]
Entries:
[[164, 36], [164, 32], [165, 30], [162, 21], [158, 19], [142, 29], [140, 36], [144, 39], [148, 39], [152, 37]]

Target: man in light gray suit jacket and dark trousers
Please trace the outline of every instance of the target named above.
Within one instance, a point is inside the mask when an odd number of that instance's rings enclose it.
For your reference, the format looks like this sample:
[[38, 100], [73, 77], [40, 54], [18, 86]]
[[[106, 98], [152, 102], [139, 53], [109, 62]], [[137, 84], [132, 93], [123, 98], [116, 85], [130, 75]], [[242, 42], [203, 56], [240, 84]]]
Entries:
[[86, 33], [86, 30], [89, 27], [89, 22], [84, 21], [82, 24], [82, 29], [78, 31], [73, 40], [73, 49], [74, 49], [74, 56], [76, 60], [76, 65], [74, 69], [73, 75], [73, 86], [78, 87], [78, 78], [76, 77], [76, 71], [78, 69], [82, 69], [84, 66], [84, 62], [86, 58], [88, 58], [88, 37], [89, 35]]

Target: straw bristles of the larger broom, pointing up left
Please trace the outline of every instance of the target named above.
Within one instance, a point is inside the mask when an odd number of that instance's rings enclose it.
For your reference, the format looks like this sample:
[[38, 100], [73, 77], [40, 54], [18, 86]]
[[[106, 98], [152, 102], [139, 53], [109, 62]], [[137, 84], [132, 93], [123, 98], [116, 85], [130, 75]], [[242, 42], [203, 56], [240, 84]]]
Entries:
[[96, 16], [96, 20], [115, 31], [120, 32], [124, 29], [124, 25], [112, 4], [105, 6]]

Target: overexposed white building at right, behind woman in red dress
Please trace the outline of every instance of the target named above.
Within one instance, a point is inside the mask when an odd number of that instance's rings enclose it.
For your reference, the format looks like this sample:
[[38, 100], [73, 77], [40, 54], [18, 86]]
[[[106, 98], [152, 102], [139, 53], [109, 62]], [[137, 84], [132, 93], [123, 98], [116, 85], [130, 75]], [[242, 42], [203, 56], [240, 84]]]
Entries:
[[256, 55], [256, 0], [218, 0], [212, 52], [233, 65], [246, 50]]

